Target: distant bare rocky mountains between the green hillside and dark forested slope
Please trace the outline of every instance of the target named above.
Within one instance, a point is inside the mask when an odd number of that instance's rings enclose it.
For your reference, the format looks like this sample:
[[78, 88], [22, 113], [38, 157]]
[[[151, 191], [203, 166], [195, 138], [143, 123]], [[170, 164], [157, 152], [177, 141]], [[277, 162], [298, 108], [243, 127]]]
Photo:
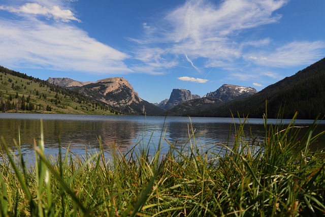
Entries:
[[[192, 107], [191, 112], [203, 109], [202, 104], [218, 104], [251, 96], [256, 93], [252, 87], [242, 87], [223, 84], [215, 91], [209, 92], [203, 98], [192, 95], [190, 90], [173, 89], [169, 99], [158, 104], [151, 104], [141, 99], [131, 84], [124, 78], [107, 78], [96, 82], [80, 82], [70, 78], [48, 78], [47, 82], [78, 92], [85, 97], [100, 100], [114, 109], [126, 114], [161, 115], [167, 111], [168, 115], [184, 115], [186, 105]], [[188, 104], [198, 103], [198, 105]], [[200, 107], [201, 106], [201, 107]], [[176, 107], [174, 109], [174, 107]], [[209, 106], [205, 106], [210, 108]], [[177, 111], [177, 112], [175, 112]]]

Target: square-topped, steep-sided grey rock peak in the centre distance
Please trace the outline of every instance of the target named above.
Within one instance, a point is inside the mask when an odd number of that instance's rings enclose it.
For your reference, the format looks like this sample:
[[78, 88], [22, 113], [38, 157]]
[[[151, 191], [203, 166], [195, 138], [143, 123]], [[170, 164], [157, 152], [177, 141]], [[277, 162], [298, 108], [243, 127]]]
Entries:
[[193, 100], [193, 99], [199, 99], [201, 98], [199, 95], [192, 95], [191, 91], [186, 89], [173, 89], [171, 96], [164, 106], [165, 110], [171, 109], [174, 106], [177, 106], [183, 102]]

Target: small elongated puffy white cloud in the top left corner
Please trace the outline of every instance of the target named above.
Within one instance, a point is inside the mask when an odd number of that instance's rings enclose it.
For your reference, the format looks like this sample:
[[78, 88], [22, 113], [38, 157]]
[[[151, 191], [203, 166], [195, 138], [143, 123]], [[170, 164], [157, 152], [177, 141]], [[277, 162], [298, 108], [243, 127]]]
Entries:
[[26, 3], [21, 7], [6, 7], [1, 6], [0, 10], [9, 11], [12, 13], [26, 14], [26, 15], [43, 15], [47, 18], [53, 18], [55, 20], [61, 20], [63, 22], [69, 22], [75, 20], [81, 22], [74, 16], [72, 11], [66, 9], [63, 10], [59, 6], [45, 7], [37, 3]]

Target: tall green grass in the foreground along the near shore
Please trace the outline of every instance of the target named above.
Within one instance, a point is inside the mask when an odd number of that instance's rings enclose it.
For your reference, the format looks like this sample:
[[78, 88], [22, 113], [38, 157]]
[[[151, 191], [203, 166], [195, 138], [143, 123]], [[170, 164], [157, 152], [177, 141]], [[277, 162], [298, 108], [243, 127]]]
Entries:
[[[325, 215], [325, 154], [310, 152], [316, 125], [305, 136], [295, 119], [267, 126], [263, 142], [235, 126], [232, 147], [201, 149], [195, 131], [181, 147], [160, 144], [150, 155], [140, 143], [126, 154], [104, 149], [74, 156], [44, 155], [35, 141], [35, 167], [6, 154], [0, 163], [2, 216], [322, 216]], [[99, 141], [101, 142], [101, 141]], [[19, 146], [19, 142], [16, 144]], [[17, 163], [18, 162], [18, 163]], [[19, 165], [19, 166], [16, 166]]]

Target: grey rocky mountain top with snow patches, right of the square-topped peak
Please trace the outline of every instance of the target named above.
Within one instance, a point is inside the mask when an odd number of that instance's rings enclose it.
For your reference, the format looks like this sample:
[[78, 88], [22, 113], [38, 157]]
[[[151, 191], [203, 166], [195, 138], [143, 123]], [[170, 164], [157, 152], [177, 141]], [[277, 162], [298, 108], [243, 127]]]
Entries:
[[243, 87], [232, 84], [223, 84], [216, 91], [209, 92], [205, 97], [220, 99], [223, 102], [228, 102], [234, 99], [249, 97], [256, 94], [256, 89], [253, 87]]

